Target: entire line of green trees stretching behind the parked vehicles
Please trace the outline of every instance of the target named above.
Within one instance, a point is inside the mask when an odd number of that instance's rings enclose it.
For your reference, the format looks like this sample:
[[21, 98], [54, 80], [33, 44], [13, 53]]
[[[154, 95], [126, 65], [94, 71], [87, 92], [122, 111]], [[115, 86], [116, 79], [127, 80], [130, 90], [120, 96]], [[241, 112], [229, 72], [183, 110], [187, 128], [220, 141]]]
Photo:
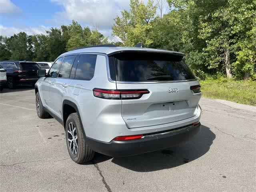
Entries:
[[[166, 13], [164, 4], [170, 7]], [[46, 34], [0, 36], [0, 60], [53, 61], [82, 46], [143, 43], [184, 52], [200, 79], [220, 74], [256, 80], [256, 0], [130, 0], [130, 10], [114, 18], [112, 31], [120, 42], [76, 21]]]

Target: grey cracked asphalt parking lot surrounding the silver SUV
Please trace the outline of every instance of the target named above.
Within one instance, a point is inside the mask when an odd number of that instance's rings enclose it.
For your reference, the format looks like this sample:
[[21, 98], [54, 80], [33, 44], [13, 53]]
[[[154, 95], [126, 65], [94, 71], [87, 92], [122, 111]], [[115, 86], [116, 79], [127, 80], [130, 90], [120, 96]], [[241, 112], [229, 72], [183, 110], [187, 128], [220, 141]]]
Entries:
[[0, 93], [0, 191], [256, 191], [256, 107], [202, 98], [202, 130], [164, 151], [74, 163], [31, 87]]

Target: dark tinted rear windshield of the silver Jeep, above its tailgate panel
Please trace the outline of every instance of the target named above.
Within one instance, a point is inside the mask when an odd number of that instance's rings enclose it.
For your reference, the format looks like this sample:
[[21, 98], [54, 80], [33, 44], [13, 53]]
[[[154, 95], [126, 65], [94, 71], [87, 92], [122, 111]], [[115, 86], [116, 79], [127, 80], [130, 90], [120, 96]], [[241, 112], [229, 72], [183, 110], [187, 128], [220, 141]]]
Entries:
[[110, 76], [121, 82], [180, 81], [195, 79], [182, 60], [166, 53], [124, 52], [109, 57]]

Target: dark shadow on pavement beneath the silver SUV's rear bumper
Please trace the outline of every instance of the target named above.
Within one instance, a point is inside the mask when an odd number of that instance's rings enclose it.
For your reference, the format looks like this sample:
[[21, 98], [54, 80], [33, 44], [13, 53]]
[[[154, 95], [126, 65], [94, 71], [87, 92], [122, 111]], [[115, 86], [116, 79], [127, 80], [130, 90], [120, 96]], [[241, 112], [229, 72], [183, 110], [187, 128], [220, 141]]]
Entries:
[[[112, 162], [136, 172], [169, 169], [189, 163], [206, 154], [215, 138], [216, 136], [210, 128], [202, 125], [201, 132], [198, 133], [194, 139], [186, 143], [173, 146], [166, 150], [138, 156], [113, 158]], [[93, 163], [99, 163], [109, 159], [111, 159], [111, 157], [97, 154]]]

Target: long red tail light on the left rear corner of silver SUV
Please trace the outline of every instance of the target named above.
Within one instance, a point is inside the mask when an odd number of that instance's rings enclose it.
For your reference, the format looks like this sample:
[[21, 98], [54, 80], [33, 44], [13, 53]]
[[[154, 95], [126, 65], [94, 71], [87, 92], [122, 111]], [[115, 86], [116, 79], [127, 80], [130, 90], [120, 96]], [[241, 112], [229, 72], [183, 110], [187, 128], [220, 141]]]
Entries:
[[103, 99], [139, 99], [143, 94], [148, 94], [148, 90], [105, 90], [94, 88], [93, 95]]

